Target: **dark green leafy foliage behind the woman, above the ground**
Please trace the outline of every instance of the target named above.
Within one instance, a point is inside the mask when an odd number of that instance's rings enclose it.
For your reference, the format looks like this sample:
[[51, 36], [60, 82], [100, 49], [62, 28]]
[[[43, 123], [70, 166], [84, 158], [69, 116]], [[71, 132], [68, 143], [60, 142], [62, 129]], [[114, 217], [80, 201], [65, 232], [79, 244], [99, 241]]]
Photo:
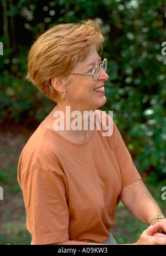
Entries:
[[[105, 36], [108, 58], [106, 105], [139, 171], [156, 182], [166, 176], [166, 4], [162, 0], [13, 0], [0, 17], [1, 124], [4, 120], [42, 120], [53, 103], [24, 80], [31, 43], [64, 22], [95, 19]], [[151, 179], [152, 177], [152, 179]]]

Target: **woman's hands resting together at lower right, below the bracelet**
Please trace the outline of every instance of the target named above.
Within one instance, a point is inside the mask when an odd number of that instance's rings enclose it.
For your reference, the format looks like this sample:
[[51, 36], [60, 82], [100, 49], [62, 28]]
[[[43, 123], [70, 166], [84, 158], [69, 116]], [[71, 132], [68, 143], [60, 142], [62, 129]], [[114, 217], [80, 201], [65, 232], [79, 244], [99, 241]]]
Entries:
[[136, 245], [166, 245], [166, 235], [160, 233], [160, 223], [147, 228]]

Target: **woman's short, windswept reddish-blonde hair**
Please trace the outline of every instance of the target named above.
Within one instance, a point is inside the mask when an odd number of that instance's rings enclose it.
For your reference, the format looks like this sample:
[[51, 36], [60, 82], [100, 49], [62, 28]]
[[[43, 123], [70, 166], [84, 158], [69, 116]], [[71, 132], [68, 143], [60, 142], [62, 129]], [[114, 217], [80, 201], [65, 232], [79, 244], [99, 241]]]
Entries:
[[69, 82], [76, 63], [92, 50], [102, 48], [103, 41], [100, 26], [92, 20], [54, 26], [32, 45], [26, 78], [50, 99], [59, 102], [51, 78], [60, 76]]

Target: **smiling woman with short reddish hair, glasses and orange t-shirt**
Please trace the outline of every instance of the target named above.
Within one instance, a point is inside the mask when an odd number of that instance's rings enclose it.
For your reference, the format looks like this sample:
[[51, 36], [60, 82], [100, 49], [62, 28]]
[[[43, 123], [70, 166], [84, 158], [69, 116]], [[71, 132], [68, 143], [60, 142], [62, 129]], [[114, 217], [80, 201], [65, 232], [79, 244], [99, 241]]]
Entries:
[[97, 110], [108, 80], [102, 42], [100, 26], [87, 21], [49, 29], [30, 50], [28, 80], [57, 102], [19, 159], [33, 244], [116, 244], [110, 228], [120, 199], [151, 223], [136, 244], [166, 244], [162, 211], [111, 117]]

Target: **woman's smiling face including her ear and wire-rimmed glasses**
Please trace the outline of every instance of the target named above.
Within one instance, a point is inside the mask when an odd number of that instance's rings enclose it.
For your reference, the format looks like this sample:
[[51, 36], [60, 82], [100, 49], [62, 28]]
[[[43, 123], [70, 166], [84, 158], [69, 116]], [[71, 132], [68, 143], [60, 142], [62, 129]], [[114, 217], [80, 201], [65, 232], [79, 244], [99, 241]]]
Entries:
[[[64, 107], [69, 105], [71, 111], [79, 110], [83, 112], [84, 110], [94, 111], [105, 104], [104, 84], [108, 80], [108, 75], [105, 72], [106, 62], [106, 59], [104, 62], [100, 62], [100, 57], [97, 51], [94, 50], [85, 60], [77, 62], [68, 83], [65, 84], [63, 81], [57, 80], [56, 77], [53, 78], [52, 85], [55, 90], [59, 93], [65, 91]], [[78, 74], [78, 76], [73, 74]], [[59, 107], [62, 106], [58, 104], [56, 109], [58, 110]]]

